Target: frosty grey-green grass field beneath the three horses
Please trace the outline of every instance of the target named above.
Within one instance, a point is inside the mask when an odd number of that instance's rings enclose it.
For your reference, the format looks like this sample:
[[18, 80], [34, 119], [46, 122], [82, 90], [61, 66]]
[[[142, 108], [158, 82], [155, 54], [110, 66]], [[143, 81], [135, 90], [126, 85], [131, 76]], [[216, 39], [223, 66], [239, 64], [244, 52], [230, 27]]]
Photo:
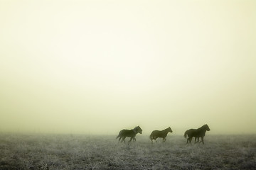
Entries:
[[[128, 140], [128, 139], [127, 139]], [[0, 134], [0, 169], [256, 169], [256, 135], [169, 135], [118, 143], [115, 136]]]

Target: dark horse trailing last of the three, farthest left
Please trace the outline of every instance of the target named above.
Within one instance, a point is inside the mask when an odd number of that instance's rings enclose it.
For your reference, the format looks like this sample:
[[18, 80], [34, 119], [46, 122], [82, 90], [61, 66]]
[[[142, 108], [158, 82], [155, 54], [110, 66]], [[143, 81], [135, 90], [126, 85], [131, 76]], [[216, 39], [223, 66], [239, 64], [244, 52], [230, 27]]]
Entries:
[[131, 142], [131, 140], [136, 141], [135, 136], [137, 135], [137, 133], [142, 134], [142, 128], [140, 128], [139, 126], [135, 127], [133, 130], [120, 130], [119, 135], [117, 136], [117, 138], [119, 137], [119, 142], [121, 140], [121, 142], [125, 142], [124, 139], [126, 137], [131, 137], [131, 139], [129, 140], [129, 142]]

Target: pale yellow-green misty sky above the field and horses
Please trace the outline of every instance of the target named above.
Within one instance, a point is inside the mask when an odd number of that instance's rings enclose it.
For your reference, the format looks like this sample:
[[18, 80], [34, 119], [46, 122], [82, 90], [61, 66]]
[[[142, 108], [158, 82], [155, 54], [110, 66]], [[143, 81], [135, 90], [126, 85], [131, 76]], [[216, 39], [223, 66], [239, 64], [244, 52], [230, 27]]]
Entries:
[[256, 1], [0, 0], [0, 132], [256, 133]]

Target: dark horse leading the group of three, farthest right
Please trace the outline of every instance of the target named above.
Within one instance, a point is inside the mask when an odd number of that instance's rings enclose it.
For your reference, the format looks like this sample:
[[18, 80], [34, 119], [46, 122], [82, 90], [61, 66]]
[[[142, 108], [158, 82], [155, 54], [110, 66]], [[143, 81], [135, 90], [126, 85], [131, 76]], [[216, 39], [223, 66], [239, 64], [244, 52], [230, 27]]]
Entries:
[[[184, 137], [186, 138], [186, 136], [188, 135], [187, 143], [188, 143], [188, 141], [191, 143], [191, 140], [193, 137], [195, 137], [195, 142], [199, 141], [199, 137], [201, 137], [201, 139], [202, 139], [201, 142], [203, 142], [203, 137], [206, 135], [206, 130], [210, 131], [210, 128], [208, 127], [207, 124], [203, 125], [201, 128], [198, 128], [198, 129], [187, 130], [184, 133]], [[196, 141], [196, 139], [198, 139], [198, 141]], [[203, 142], [203, 144], [204, 144], [204, 142]]]

